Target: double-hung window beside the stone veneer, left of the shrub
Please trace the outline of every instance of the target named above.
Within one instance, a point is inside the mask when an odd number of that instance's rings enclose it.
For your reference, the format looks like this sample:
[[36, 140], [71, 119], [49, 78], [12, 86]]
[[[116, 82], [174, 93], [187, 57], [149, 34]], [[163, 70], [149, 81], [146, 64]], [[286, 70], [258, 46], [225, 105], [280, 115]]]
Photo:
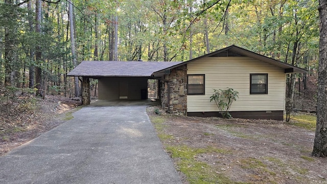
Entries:
[[204, 74], [188, 75], [188, 95], [204, 95]]

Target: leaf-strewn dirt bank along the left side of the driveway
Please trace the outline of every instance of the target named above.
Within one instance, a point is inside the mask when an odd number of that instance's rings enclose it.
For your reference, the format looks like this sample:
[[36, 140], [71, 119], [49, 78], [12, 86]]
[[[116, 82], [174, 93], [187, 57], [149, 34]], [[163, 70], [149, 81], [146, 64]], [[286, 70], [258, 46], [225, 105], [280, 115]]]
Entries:
[[14, 117], [0, 117], [0, 156], [72, 118], [81, 104], [66, 97], [47, 95], [37, 109]]

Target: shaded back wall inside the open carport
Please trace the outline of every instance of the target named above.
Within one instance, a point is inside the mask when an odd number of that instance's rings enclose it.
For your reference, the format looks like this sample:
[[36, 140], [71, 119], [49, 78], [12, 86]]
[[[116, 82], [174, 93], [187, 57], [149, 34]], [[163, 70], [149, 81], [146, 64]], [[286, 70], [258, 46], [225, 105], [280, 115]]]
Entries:
[[[127, 82], [128, 91], [120, 93], [120, 84]], [[120, 94], [129, 100], [141, 99], [141, 89], [148, 88], [147, 78], [101, 78], [99, 79], [99, 100], [119, 100]]]

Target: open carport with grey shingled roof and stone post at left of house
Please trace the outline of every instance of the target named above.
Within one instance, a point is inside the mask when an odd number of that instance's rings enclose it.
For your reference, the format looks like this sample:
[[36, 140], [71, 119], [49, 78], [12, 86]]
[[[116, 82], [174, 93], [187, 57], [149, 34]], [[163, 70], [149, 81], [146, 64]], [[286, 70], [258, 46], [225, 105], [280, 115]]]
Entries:
[[[67, 76], [82, 77], [82, 101], [90, 103], [89, 79], [99, 81], [99, 100], [141, 100], [148, 96], [152, 73], [180, 62], [82, 61]], [[158, 82], [159, 84], [160, 82]]]

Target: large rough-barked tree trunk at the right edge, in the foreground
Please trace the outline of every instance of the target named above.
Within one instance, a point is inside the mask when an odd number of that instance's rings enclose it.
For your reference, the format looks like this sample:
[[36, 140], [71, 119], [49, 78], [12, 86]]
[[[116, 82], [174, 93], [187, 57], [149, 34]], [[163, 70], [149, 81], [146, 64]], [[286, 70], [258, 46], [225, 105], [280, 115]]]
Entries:
[[327, 156], [327, 2], [319, 0], [320, 43], [318, 71], [317, 125], [313, 156]]

